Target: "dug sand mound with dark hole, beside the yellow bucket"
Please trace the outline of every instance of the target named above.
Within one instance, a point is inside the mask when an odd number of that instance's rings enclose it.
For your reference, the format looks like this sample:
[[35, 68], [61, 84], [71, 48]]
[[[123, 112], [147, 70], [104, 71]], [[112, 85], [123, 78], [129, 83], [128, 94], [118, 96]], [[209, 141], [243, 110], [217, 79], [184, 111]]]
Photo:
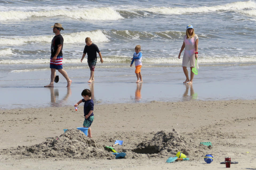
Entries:
[[150, 141], [143, 141], [132, 151], [133, 157], [139, 157], [140, 154], [147, 154], [148, 157], [166, 157], [174, 156], [181, 151], [188, 158], [194, 159], [198, 156], [204, 156], [205, 151], [211, 146], [199, 145], [179, 135], [175, 129], [173, 132], [166, 130], [158, 131]]

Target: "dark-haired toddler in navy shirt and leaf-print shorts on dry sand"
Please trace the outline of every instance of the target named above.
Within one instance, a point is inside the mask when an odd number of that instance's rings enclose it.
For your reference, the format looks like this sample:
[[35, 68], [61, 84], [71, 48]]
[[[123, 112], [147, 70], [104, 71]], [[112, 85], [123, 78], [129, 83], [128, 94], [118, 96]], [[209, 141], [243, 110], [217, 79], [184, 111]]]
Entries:
[[77, 107], [80, 103], [85, 102], [85, 105], [83, 106], [83, 113], [85, 116], [85, 121], [83, 122], [83, 127], [88, 128], [88, 137], [92, 138], [91, 135], [91, 124], [94, 120], [93, 116], [93, 99], [91, 99], [91, 91], [89, 89], [85, 89], [82, 91], [81, 95], [83, 96], [83, 99], [79, 100], [76, 104], [74, 104], [75, 107]]

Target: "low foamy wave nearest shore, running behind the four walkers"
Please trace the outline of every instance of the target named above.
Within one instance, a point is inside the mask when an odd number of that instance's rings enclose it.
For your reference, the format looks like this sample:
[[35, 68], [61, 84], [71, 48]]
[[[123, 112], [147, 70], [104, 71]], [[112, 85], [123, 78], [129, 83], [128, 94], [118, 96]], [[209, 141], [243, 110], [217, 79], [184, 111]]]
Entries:
[[[63, 63], [81, 63], [81, 58], [77, 59], [63, 59]], [[104, 62], [109, 63], [130, 63], [131, 57], [128, 56], [107, 56], [103, 57]], [[42, 64], [49, 63], [50, 59], [18, 59], [18, 60], [0, 60], [0, 64]], [[199, 63], [234, 63], [234, 62], [256, 62], [256, 56], [243, 56], [243, 57], [231, 57], [231, 56], [218, 56], [218, 57], [200, 57]], [[84, 62], [83, 62], [84, 63]], [[178, 57], [143, 57], [142, 63], [148, 64], [175, 64], [182, 63]]]

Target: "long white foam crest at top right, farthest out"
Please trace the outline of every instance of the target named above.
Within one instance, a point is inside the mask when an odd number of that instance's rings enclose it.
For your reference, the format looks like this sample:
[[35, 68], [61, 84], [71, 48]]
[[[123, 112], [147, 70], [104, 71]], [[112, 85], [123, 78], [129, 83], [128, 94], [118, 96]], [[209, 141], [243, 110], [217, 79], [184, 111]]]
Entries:
[[156, 12], [160, 14], [191, 14], [191, 13], [207, 13], [207, 12], [216, 12], [216, 11], [237, 11], [243, 9], [255, 9], [256, 3], [253, 1], [244, 1], [244, 2], [233, 2], [225, 5], [217, 6], [202, 6], [195, 8], [180, 8], [180, 7], [152, 7], [152, 8], [140, 8], [139, 10]]

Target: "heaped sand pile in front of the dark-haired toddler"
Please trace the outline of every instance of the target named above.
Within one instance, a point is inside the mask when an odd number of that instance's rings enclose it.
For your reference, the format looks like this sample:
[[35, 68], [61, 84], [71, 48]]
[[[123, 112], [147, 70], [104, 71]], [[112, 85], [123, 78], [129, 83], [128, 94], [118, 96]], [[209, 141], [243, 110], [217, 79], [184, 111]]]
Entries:
[[23, 155], [29, 158], [49, 158], [54, 157], [58, 160], [63, 158], [113, 158], [113, 155], [104, 150], [103, 147], [97, 146], [96, 142], [86, 137], [78, 129], [67, 130], [59, 137], [47, 139], [38, 145], [19, 146], [17, 149], [5, 150], [11, 155]]

